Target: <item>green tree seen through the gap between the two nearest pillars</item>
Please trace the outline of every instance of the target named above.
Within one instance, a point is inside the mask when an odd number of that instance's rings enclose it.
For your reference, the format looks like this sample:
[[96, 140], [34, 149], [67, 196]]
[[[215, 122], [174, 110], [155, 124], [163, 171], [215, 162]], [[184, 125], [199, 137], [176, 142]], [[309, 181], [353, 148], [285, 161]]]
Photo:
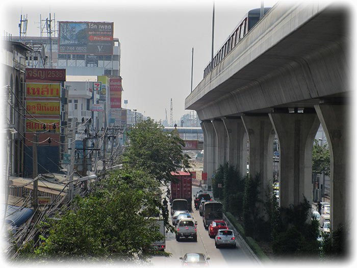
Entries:
[[314, 140], [312, 152], [312, 173], [325, 173], [327, 176], [330, 174], [330, 152], [327, 143], [321, 146], [317, 139]]

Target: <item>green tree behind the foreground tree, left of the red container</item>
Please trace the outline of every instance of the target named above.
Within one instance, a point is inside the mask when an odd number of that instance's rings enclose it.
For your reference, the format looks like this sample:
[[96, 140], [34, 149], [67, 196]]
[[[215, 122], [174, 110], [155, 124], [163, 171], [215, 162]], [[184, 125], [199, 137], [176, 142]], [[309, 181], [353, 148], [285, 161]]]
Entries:
[[153, 119], [139, 121], [128, 133], [129, 146], [122, 162], [132, 169], [143, 169], [152, 178], [167, 183], [175, 180], [172, 172], [190, 167], [189, 156], [182, 153], [184, 141], [175, 131], [164, 132]]

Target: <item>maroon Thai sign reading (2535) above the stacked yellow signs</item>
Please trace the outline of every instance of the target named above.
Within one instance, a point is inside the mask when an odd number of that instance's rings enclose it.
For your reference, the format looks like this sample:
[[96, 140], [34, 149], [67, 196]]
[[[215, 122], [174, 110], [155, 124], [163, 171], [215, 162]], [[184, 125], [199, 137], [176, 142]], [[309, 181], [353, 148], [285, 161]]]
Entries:
[[25, 68], [25, 80], [66, 81], [66, 69]]

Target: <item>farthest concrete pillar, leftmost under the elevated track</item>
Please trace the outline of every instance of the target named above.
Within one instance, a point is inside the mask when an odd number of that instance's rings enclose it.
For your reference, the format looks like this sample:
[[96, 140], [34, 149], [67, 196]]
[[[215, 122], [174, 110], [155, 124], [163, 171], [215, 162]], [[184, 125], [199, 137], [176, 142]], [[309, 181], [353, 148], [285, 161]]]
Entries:
[[207, 134], [207, 144], [206, 144], [206, 150], [205, 153], [203, 154], [203, 157], [206, 158], [204, 160], [204, 163], [206, 163], [206, 170], [207, 170], [207, 185], [209, 188], [212, 187], [212, 176], [215, 171], [216, 167], [216, 147], [217, 147], [217, 138], [216, 138], [216, 132], [213, 128], [213, 124], [211, 121], [202, 121], [201, 124]]

